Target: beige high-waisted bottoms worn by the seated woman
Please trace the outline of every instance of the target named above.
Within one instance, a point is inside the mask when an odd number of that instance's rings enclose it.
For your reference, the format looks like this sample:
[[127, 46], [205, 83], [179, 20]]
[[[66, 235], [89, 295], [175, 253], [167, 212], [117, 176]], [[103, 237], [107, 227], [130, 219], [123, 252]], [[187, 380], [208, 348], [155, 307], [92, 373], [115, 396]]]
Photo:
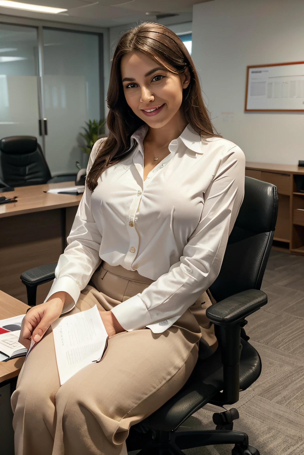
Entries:
[[[106, 311], [152, 281], [103, 263], [70, 314], [97, 306]], [[215, 346], [203, 294], [161, 334], [122, 332], [92, 363], [60, 386], [53, 334], [30, 352], [12, 395], [15, 455], [125, 455], [131, 425], [161, 407], [186, 383], [198, 359], [201, 332]], [[68, 317], [64, 315], [63, 317]]]

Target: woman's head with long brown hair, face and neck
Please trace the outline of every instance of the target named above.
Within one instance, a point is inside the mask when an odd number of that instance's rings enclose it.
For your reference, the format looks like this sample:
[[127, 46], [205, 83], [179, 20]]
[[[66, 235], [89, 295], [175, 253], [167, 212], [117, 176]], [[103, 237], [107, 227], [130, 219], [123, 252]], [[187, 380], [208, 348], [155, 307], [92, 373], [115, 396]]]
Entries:
[[[163, 25], [143, 23], [122, 35], [113, 56], [107, 102], [110, 133], [87, 176], [91, 191], [106, 167], [131, 152], [131, 136], [145, 123], [159, 129], [170, 117], [177, 130], [190, 123], [198, 134], [216, 136], [192, 58], [182, 40]], [[158, 160], [148, 150], [152, 132], [144, 144], [147, 172]], [[159, 130], [157, 138], [163, 146]], [[167, 145], [161, 147], [161, 157], [169, 153]]]

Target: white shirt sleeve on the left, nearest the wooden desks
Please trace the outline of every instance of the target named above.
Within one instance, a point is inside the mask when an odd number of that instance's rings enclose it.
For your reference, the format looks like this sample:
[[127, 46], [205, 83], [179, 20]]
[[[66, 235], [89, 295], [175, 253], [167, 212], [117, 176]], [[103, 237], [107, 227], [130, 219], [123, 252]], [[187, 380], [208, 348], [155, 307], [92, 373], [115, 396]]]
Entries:
[[[100, 141], [94, 144], [87, 172], [91, 169]], [[71, 233], [67, 238], [67, 247], [59, 257], [55, 270], [55, 280], [46, 300], [58, 291], [66, 291], [74, 300], [86, 287], [93, 272], [101, 262], [99, 249], [101, 234], [91, 212], [91, 192], [85, 187], [85, 192], [79, 204]]]

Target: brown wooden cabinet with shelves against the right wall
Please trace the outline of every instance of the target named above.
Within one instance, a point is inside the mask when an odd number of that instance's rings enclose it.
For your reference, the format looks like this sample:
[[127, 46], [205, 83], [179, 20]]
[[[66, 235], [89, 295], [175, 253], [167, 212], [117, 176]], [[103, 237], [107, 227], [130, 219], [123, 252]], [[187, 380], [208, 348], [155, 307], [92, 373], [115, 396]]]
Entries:
[[298, 176], [303, 176], [304, 182], [304, 167], [246, 162], [245, 174], [277, 187], [279, 212], [274, 240], [285, 244], [287, 252], [304, 255], [304, 193], [297, 192], [295, 182]]

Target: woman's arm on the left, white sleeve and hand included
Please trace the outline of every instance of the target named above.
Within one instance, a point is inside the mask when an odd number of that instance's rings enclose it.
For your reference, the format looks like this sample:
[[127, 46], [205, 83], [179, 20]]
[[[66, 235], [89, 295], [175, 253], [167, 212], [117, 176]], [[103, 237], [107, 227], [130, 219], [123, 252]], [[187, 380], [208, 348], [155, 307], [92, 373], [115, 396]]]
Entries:
[[[87, 172], [91, 169], [99, 147], [100, 141], [97, 141], [90, 155]], [[91, 212], [91, 191], [87, 187], [67, 243], [59, 258], [55, 280], [46, 301], [31, 308], [22, 321], [20, 343], [26, 348], [30, 345], [31, 336], [34, 341], [40, 341], [52, 322], [59, 318], [63, 307], [73, 308], [81, 290], [86, 287], [101, 262], [101, 234]]]

